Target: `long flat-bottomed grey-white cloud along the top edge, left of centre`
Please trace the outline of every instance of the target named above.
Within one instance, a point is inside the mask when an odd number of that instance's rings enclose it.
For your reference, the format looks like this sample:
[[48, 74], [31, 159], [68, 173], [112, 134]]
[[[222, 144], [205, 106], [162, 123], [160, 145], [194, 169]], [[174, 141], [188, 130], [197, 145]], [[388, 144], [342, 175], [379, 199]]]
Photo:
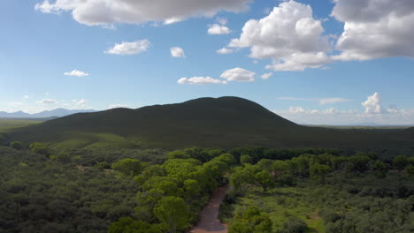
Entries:
[[190, 17], [212, 17], [219, 11], [240, 12], [252, 0], [43, 0], [35, 9], [44, 13], [71, 11], [73, 19], [88, 26], [116, 23], [176, 22]]

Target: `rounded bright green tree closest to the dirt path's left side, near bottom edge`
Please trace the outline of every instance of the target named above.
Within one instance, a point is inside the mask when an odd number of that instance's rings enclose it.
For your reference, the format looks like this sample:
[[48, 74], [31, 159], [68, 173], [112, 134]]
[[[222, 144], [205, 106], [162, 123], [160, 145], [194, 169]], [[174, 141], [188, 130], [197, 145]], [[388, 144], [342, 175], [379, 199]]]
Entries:
[[154, 208], [154, 214], [159, 221], [164, 222], [170, 228], [170, 233], [185, 229], [188, 226], [188, 207], [183, 199], [177, 197], [165, 197], [158, 201]]

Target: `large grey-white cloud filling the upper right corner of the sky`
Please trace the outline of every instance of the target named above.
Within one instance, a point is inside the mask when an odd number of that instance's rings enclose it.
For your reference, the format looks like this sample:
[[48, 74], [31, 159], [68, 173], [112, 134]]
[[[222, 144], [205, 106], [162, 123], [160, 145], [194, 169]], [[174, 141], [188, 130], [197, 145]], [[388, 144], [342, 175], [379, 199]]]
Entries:
[[334, 0], [332, 16], [344, 22], [338, 60], [414, 57], [414, 1]]

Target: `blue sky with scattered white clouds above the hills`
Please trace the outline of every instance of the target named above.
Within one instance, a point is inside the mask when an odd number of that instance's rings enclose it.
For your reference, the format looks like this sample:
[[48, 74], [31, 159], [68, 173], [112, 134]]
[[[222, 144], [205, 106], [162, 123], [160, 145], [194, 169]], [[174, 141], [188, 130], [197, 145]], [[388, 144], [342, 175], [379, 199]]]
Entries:
[[414, 124], [412, 0], [4, 0], [0, 111], [239, 96], [299, 124]]

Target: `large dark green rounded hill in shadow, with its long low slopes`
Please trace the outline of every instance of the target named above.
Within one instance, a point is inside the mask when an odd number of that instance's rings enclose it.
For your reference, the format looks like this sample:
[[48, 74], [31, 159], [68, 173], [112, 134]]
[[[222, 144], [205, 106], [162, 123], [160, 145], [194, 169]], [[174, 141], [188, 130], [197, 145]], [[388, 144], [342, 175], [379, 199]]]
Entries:
[[70, 141], [75, 147], [116, 141], [119, 145], [172, 148], [265, 146], [410, 149], [414, 145], [414, 137], [411, 137], [413, 133], [402, 130], [306, 127], [292, 123], [253, 101], [221, 97], [141, 109], [78, 113], [10, 132], [9, 137], [59, 145]]

